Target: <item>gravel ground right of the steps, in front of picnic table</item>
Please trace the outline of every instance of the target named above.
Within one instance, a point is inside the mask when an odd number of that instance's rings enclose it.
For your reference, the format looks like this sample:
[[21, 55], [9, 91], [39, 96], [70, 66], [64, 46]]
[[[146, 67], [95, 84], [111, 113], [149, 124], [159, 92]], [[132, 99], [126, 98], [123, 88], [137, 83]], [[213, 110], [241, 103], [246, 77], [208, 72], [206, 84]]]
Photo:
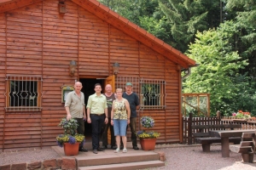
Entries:
[[256, 170], [253, 163], [241, 161], [241, 154], [230, 152], [230, 157], [221, 156], [221, 146], [212, 145], [211, 152], [202, 152], [201, 146], [170, 147], [157, 149], [166, 153], [166, 166], [150, 169], [165, 170]]

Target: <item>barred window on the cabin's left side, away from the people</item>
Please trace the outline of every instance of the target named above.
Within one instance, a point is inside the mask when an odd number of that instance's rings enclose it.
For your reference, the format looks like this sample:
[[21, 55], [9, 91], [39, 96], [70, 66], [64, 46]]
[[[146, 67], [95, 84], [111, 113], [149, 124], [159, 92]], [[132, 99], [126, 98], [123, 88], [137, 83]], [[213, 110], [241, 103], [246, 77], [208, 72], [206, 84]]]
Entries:
[[41, 111], [41, 77], [7, 76], [6, 111]]

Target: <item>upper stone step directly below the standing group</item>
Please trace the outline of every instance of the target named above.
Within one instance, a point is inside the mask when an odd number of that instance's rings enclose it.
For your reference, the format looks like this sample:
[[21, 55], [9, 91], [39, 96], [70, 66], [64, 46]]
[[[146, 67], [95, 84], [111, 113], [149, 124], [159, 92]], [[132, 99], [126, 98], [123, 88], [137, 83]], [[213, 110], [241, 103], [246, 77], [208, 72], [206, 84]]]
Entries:
[[[113, 151], [112, 151], [113, 152]], [[96, 154], [94, 156], [77, 156], [78, 167], [119, 164], [137, 161], [159, 161], [159, 154], [154, 151], [131, 151], [128, 153]]]

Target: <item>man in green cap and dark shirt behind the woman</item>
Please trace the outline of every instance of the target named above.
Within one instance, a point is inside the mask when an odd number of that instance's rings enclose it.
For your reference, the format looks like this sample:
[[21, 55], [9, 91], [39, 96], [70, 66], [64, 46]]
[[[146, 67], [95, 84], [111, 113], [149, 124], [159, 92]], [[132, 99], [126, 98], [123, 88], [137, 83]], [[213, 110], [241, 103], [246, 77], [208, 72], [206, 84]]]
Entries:
[[137, 135], [136, 135], [136, 122], [137, 122], [137, 111], [139, 109], [139, 99], [136, 93], [132, 92], [132, 83], [126, 82], [125, 93], [123, 93], [123, 98], [127, 99], [130, 104], [131, 116], [130, 116], [130, 128], [131, 128], [131, 141], [132, 148], [134, 150], [139, 150], [137, 147]]

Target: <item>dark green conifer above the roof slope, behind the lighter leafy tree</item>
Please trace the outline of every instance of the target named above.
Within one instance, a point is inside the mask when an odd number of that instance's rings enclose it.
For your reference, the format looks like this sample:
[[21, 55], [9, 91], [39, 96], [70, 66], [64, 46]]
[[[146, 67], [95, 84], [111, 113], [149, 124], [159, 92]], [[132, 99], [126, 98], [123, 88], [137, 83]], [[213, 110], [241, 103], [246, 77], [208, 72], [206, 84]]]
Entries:
[[197, 31], [219, 25], [219, 0], [161, 0], [160, 10], [170, 21], [174, 48], [185, 52]]

